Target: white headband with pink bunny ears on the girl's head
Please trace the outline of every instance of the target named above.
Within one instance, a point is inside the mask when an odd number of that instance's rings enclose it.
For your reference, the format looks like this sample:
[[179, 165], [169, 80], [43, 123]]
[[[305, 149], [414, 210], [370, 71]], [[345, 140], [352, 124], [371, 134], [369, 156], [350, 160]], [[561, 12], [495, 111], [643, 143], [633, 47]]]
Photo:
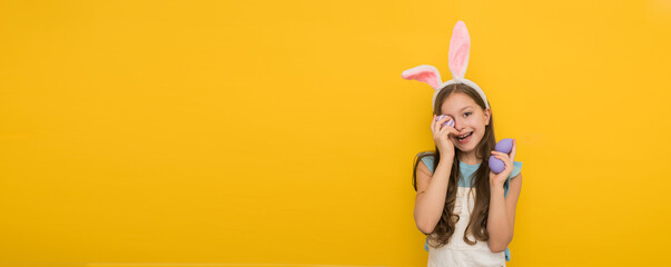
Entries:
[[441, 81], [441, 73], [438, 70], [428, 65], [421, 65], [415, 68], [403, 71], [401, 77], [406, 80], [418, 80], [422, 82], [428, 83], [435, 92], [433, 93], [432, 107], [435, 109], [436, 96], [438, 92], [453, 83], [464, 83], [466, 86], [472, 87], [480, 93], [482, 100], [485, 102], [485, 106], [490, 108], [490, 103], [487, 102], [487, 98], [484, 92], [475, 82], [467, 80], [464, 78], [466, 73], [466, 68], [468, 67], [468, 52], [471, 50], [471, 36], [468, 36], [468, 30], [466, 30], [466, 24], [464, 21], [457, 21], [454, 26], [454, 30], [452, 30], [452, 39], [450, 40], [450, 52], [448, 56], [448, 67], [452, 72], [452, 80], [446, 82]]

